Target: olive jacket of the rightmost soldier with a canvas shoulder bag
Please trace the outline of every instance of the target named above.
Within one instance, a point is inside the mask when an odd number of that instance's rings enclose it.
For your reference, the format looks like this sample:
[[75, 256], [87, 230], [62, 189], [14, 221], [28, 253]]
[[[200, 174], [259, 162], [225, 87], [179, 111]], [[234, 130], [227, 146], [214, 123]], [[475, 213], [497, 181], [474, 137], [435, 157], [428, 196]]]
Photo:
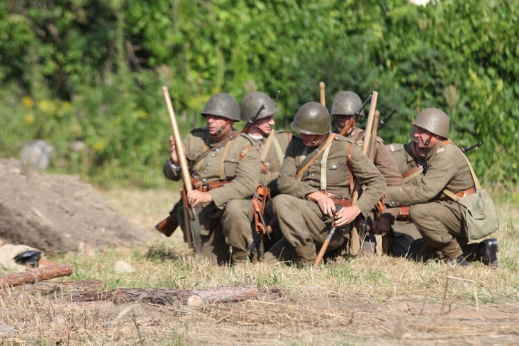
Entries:
[[412, 206], [445, 199], [443, 190], [456, 193], [473, 187], [471, 171], [465, 155], [452, 143], [437, 143], [427, 153], [424, 172], [416, 186], [388, 188], [385, 202], [388, 206]]

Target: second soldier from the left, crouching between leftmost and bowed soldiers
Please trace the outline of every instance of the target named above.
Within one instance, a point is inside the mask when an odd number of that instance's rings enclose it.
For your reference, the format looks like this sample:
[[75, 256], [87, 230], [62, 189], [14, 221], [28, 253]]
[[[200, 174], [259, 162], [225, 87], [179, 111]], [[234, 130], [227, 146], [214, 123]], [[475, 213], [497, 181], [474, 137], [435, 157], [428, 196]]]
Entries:
[[[245, 122], [257, 115], [253, 120], [253, 125], [248, 128], [247, 134], [260, 152], [262, 167], [259, 183], [262, 187], [268, 188], [273, 197], [277, 194], [277, 176], [280, 174], [284, 152], [292, 134], [290, 131], [273, 131], [274, 115], [280, 110], [266, 93], [261, 91], [248, 93], [242, 100], [241, 108], [242, 120]], [[265, 197], [262, 198], [263, 203], [266, 203], [265, 199]], [[233, 264], [246, 260], [257, 260], [257, 256], [253, 258], [253, 253], [249, 250], [252, 249], [253, 252], [255, 250], [255, 246], [252, 246], [253, 233], [251, 231], [255, 210], [251, 201], [243, 202], [240, 199], [229, 201], [226, 209], [233, 210], [233, 212], [226, 213], [221, 219], [227, 243], [233, 247]], [[265, 219], [268, 224], [270, 218], [265, 217]], [[260, 239], [256, 239], [256, 243], [259, 241]]]

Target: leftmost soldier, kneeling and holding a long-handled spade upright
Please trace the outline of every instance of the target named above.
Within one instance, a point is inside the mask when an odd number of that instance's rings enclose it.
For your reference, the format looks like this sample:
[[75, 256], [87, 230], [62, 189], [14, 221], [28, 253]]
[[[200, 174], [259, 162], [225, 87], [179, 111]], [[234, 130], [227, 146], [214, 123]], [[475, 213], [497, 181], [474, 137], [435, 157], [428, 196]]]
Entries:
[[[228, 262], [229, 246], [224, 239], [221, 217], [227, 217], [227, 203], [250, 198], [255, 192], [260, 179], [260, 156], [250, 138], [233, 128], [241, 120], [233, 96], [212, 95], [201, 115], [206, 117], [206, 127], [194, 129], [183, 142], [190, 175], [199, 181], [188, 193], [188, 203], [199, 212], [202, 255], [224, 264]], [[178, 181], [180, 169], [170, 136], [170, 159], [165, 162], [163, 172], [167, 179]], [[182, 204], [177, 204], [173, 213], [185, 233], [186, 225], [180, 216], [182, 208]]]

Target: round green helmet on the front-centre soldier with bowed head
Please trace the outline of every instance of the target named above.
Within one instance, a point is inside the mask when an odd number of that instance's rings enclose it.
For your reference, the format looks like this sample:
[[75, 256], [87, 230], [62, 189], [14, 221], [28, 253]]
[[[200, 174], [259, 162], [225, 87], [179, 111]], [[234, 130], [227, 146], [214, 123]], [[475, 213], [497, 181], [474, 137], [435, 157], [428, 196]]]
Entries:
[[300, 134], [326, 134], [331, 131], [330, 114], [319, 102], [308, 102], [295, 114], [290, 127]]

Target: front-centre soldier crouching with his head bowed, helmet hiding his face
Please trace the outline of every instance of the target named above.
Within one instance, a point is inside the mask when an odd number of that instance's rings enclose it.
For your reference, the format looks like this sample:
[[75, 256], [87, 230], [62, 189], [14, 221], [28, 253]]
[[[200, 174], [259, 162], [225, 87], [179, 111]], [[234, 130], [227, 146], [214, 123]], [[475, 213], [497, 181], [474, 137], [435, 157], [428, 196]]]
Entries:
[[[366, 216], [381, 198], [385, 181], [361, 149], [343, 136], [331, 133], [329, 113], [322, 104], [308, 102], [298, 110], [293, 136], [277, 179], [280, 193], [273, 199], [274, 215], [284, 236], [265, 254], [265, 261], [299, 260], [313, 264], [316, 248], [325, 242], [331, 224], [341, 228], [327, 248], [334, 251], [349, 237], [349, 224]], [[351, 206], [351, 173], [365, 185], [365, 192]], [[338, 208], [338, 205], [344, 205]]]

